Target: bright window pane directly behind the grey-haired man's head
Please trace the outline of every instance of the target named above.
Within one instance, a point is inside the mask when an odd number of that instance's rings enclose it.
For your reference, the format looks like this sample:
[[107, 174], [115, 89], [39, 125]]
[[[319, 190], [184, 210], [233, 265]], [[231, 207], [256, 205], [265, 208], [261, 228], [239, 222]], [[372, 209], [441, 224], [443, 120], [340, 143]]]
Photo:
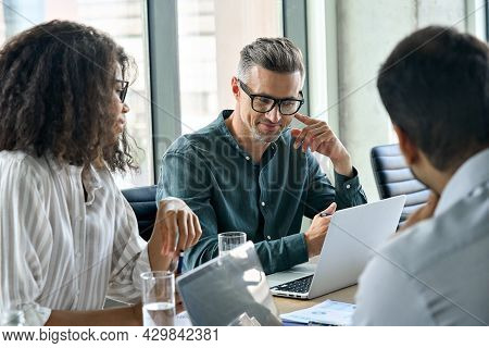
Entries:
[[239, 51], [263, 36], [283, 36], [281, 1], [179, 0], [178, 49], [181, 132], [234, 109], [230, 90]]

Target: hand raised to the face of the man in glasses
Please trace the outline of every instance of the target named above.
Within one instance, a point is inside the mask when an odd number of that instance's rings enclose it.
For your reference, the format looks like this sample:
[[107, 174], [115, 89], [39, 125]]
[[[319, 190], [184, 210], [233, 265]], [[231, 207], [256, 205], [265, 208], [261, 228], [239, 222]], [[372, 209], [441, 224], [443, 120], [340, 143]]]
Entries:
[[292, 137], [296, 138], [293, 147], [298, 149], [302, 145], [303, 152], [309, 147], [312, 152], [317, 151], [321, 154], [327, 156], [338, 174], [351, 176], [353, 166], [351, 164], [350, 153], [348, 153], [328, 124], [324, 121], [310, 119], [300, 113], [297, 113], [294, 117], [305, 124], [305, 127], [302, 129], [293, 128], [291, 130]]

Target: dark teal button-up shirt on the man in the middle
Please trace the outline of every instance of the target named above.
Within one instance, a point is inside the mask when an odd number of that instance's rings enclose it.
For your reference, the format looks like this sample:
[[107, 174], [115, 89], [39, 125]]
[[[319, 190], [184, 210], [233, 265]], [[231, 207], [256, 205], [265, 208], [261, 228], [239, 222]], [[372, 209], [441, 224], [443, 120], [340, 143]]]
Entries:
[[217, 257], [217, 234], [231, 231], [247, 233], [266, 274], [306, 262], [302, 216], [312, 219], [334, 201], [338, 209], [365, 203], [356, 171], [352, 178], [336, 174], [333, 186], [309, 150], [293, 149], [288, 129], [256, 166], [224, 122], [231, 112], [179, 137], [162, 159], [156, 200], [181, 198], [202, 226], [184, 270]]

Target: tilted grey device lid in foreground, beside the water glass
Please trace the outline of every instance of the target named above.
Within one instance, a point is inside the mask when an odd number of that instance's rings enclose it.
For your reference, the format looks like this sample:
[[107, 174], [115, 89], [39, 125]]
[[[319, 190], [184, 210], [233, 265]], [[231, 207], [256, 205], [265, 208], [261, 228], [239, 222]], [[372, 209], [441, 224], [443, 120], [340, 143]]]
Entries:
[[281, 325], [251, 241], [177, 278], [193, 325], [224, 326], [246, 313], [261, 325]]

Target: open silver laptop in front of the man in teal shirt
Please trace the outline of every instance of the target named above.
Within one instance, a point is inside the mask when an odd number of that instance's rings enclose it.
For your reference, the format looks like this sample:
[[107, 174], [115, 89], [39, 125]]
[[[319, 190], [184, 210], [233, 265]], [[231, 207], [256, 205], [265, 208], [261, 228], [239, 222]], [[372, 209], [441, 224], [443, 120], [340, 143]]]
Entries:
[[398, 226], [405, 196], [337, 211], [317, 264], [267, 276], [275, 296], [312, 299], [356, 284], [365, 264]]

